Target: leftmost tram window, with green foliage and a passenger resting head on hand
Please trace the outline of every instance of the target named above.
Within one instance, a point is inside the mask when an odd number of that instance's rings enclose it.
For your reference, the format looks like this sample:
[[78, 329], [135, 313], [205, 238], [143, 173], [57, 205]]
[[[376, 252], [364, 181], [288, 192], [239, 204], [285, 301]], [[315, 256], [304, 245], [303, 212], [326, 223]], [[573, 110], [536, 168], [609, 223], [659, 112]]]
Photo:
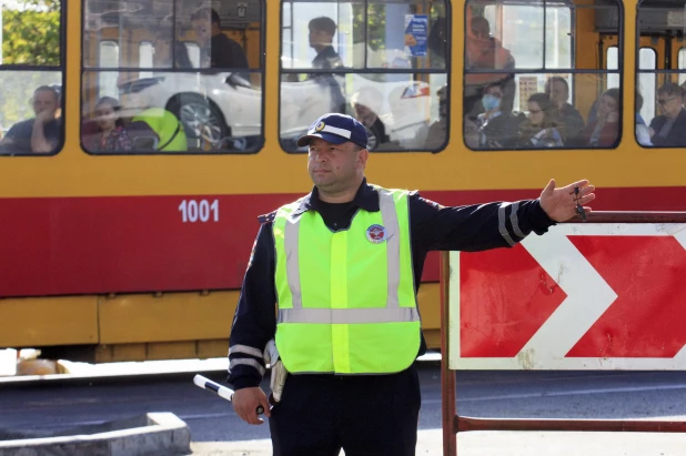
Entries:
[[0, 155], [62, 148], [62, 4], [0, 2]]

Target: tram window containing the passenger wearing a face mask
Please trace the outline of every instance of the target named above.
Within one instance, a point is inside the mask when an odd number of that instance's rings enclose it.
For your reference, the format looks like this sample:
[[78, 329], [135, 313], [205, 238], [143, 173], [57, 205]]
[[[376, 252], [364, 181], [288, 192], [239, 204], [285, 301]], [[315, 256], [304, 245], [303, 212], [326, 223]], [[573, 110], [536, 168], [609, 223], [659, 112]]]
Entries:
[[[614, 148], [621, 138], [621, 50], [614, 0], [468, 0], [464, 141], [473, 150]], [[578, 71], [582, 70], [582, 71]]]

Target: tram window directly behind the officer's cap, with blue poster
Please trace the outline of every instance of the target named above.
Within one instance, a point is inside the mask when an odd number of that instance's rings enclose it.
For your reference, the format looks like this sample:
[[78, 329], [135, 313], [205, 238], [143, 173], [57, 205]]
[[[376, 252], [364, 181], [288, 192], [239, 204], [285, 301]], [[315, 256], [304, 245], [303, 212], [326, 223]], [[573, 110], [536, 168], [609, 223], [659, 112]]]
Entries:
[[283, 1], [281, 145], [327, 112], [359, 119], [373, 152], [447, 143], [447, 3]]

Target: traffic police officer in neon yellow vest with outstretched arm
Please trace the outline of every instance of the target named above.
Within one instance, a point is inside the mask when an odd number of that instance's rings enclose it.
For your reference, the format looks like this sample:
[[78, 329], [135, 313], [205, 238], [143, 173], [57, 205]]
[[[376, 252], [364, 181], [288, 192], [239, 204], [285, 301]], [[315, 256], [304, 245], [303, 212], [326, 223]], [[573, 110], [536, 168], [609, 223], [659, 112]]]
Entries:
[[[587, 181], [556, 189], [551, 180], [537, 200], [444, 207], [369, 184], [366, 138], [349, 115], [317, 119], [297, 142], [309, 145], [312, 192], [260, 217], [229, 383], [245, 422], [261, 424], [255, 409], [266, 409], [274, 455], [414, 455], [426, 253], [513, 246], [595, 197]], [[259, 385], [274, 337], [289, 374], [270, 412]]]

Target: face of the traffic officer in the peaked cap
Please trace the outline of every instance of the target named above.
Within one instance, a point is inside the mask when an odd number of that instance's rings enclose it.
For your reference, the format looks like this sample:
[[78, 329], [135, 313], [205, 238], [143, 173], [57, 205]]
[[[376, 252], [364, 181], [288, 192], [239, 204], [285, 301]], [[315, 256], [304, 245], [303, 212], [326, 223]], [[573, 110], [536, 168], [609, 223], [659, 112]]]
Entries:
[[352, 142], [333, 144], [313, 138], [307, 155], [307, 172], [317, 188], [337, 192], [357, 183], [357, 172], [364, 170], [367, 156], [366, 149], [357, 151]]

